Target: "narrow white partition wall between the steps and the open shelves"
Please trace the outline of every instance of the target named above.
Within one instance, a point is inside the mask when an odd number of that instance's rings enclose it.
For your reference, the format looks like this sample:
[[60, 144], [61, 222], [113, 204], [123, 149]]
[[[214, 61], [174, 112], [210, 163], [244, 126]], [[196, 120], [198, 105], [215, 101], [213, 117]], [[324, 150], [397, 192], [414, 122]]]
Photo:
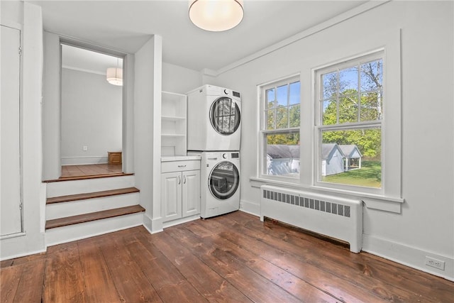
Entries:
[[135, 55], [134, 171], [145, 208], [144, 225], [162, 230], [160, 207], [162, 38], [154, 35]]

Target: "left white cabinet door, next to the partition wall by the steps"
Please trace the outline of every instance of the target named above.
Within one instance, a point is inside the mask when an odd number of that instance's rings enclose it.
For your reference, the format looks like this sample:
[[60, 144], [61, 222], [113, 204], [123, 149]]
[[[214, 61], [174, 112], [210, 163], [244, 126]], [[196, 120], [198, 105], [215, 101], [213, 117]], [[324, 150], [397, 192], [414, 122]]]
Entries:
[[163, 222], [182, 217], [182, 173], [161, 174], [161, 205]]

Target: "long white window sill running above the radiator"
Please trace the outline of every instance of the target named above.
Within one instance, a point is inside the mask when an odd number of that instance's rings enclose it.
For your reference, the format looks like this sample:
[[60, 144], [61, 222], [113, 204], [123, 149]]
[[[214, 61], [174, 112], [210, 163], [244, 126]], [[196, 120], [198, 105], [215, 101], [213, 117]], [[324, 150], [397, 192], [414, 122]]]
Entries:
[[283, 187], [290, 187], [292, 189], [304, 189], [309, 192], [318, 192], [321, 194], [341, 194], [348, 198], [359, 198], [364, 202], [368, 209], [378, 209], [381, 211], [389, 211], [396, 214], [400, 214], [402, 211], [402, 204], [405, 202], [403, 198], [386, 197], [377, 194], [367, 194], [363, 192], [351, 192], [343, 189], [331, 189], [326, 187], [317, 186], [304, 186], [301, 184], [283, 182], [279, 180], [271, 180], [259, 177], [249, 178], [250, 186], [260, 188], [265, 184], [280, 185]]

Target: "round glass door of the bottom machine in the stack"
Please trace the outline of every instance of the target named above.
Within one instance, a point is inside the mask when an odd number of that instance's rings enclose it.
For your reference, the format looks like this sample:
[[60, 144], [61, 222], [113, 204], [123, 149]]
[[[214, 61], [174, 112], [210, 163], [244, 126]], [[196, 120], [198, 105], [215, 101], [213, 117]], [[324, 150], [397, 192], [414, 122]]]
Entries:
[[211, 170], [209, 188], [214, 197], [221, 200], [232, 197], [239, 184], [240, 174], [232, 162], [220, 162]]

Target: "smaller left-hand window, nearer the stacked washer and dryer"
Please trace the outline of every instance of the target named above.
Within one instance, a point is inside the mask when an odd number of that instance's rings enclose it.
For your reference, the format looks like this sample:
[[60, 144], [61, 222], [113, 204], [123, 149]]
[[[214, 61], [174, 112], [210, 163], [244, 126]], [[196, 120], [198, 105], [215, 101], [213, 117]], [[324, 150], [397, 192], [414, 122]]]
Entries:
[[261, 175], [299, 179], [299, 77], [260, 87]]

